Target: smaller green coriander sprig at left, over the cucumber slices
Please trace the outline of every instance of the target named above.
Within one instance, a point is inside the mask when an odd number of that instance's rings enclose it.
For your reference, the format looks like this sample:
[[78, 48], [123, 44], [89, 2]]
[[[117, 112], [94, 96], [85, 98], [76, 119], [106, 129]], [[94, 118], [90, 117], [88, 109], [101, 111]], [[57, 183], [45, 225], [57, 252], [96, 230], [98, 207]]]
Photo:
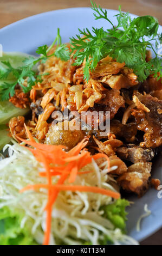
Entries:
[[[57, 44], [56, 51], [52, 54], [48, 54], [51, 48]], [[56, 56], [61, 58], [61, 60], [68, 60], [70, 57], [70, 53], [68, 47], [61, 42], [60, 29], [57, 29], [57, 36], [50, 47], [47, 45], [43, 45], [37, 48], [37, 54], [41, 54], [40, 57], [34, 58], [30, 56], [29, 58], [24, 59], [24, 65], [18, 68], [13, 68], [9, 61], [5, 61], [2, 63], [6, 66], [6, 68], [0, 69], [0, 80], [6, 80], [7, 77], [12, 74], [15, 77], [15, 81], [10, 83], [5, 81], [0, 86], [0, 97], [1, 100], [8, 100], [9, 97], [14, 96], [15, 87], [19, 84], [24, 93], [28, 93], [31, 88], [35, 85], [36, 82], [41, 82], [40, 75], [37, 75], [37, 72], [34, 70], [34, 66], [38, 62], [46, 62], [48, 58], [51, 56]], [[1, 59], [0, 59], [1, 60]], [[48, 75], [48, 74], [43, 74]], [[27, 86], [24, 86], [24, 80], [27, 78]]]

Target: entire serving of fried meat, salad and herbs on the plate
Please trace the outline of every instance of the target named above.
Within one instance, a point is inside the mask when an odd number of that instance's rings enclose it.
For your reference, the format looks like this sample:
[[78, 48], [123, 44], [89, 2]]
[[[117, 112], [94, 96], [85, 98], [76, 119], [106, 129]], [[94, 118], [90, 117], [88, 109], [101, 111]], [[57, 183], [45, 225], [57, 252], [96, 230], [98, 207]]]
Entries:
[[120, 189], [141, 197], [160, 185], [151, 168], [162, 144], [152, 45], [161, 35], [152, 16], [132, 20], [119, 7], [113, 24], [92, 9], [112, 28], [79, 29], [67, 44], [58, 29], [38, 57], [0, 59], [0, 149], [9, 154], [0, 165], [0, 244], [138, 244], [125, 234]]

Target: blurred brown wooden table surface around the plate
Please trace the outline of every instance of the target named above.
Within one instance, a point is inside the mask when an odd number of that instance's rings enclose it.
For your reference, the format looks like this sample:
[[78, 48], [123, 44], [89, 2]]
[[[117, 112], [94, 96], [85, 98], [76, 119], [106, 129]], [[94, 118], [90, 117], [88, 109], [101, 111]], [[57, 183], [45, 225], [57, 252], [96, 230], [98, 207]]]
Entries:
[[[162, 0], [95, 0], [95, 3], [108, 9], [118, 9], [121, 4], [122, 11], [140, 16], [152, 15], [162, 25]], [[0, 28], [31, 15], [73, 7], [90, 7], [90, 0], [0, 0]], [[162, 245], [162, 229], [142, 241], [141, 245]]]

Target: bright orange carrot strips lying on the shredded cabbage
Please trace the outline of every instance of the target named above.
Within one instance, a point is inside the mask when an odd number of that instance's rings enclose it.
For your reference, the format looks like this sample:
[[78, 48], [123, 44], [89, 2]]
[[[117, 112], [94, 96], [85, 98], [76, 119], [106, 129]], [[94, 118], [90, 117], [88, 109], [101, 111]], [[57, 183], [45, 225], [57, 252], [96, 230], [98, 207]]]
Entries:
[[[99, 158], [105, 157], [108, 162], [109, 171], [109, 159], [107, 155], [99, 153], [91, 156], [89, 151], [85, 149], [88, 143], [88, 138], [83, 139], [80, 143], [76, 145], [76, 147], [66, 152], [63, 150], [66, 149], [66, 147], [62, 145], [47, 145], [37, 143], [26, 125], [25, 130], [29, 141], [22, 138], [18, 139], [20, 139], [25, 144], [30, 145], [32, 148], [28, 147], [28, 150], [33, 153], [38, 162], [41, 162], [43, 164], [46, 171], [40, 172], [39, 175], [43, 177], [46, 176], [47, 184], [28, 185], [27, 187], [24, 187], [22, 190], [20, 190], [20, 192], [22, 193], [27, 190], [38, 190], [40, 188], [46, 188], [48, 190], [47, 205], [44, 209], [47, 211], [47, 218], [43, 242], [43, 245], [48, 245], [51, 234], [51, 212], [53, 209], [53, 204], [55, 203], [60, 191], [100, 193], [104, 194], [105, 196], [113, 197], [115, 199], [118, 199], [120, 197], [120, 193], [101, 187], [64, 185], [64, 181], [66, 181], [67, 179], [70, 184], [73, 184], [73, 182], [76, 180], [77, 175], [92, 172], [92, 170], [80, 172], [80, 169], [92, 162], [92, 159], [97, 160]], [[22, 145], [22, 147], [25, 146]], [[57, 183], [53, 185], [52, 177], [55, 175], [60, 176], [60, 178], [58, 179]]]

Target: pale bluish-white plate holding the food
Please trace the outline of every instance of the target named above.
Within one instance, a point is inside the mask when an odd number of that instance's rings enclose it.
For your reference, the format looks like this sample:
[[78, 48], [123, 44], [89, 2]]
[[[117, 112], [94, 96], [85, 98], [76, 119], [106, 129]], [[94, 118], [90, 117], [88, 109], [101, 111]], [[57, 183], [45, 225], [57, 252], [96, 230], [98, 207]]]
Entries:
[[[115, 24], [115, 17], [118, 13], [116, 10], [107, 10], [108, 17]], [[68, 42], [69, 37], [78, 33], [77, 28], [103, 27], [110, 28], [109, 23], [105, 20], [95, 21], [93, 11], [90, 8], [71, 8], [48, 13], [38, 14], [28, 17], [27, 19], [17, 21], [0, 30], [0, 44], [3, 45], [3, 51], [16, 51], [34, 54], [38, 46], [51, 44], [54, 40], [57, 27], [60, 28], [60, 33], [63, 42]], [[132, 15], [132, 17], [137, 17]], [[162, 32], [162, 27], [159, 27], [159, 33]], [[153, 177], [159, 178], [162, 181], [162, 161], [157, 159], [153, 164]], [[134, 202], [131, 208], [128, 209], [128, 234], [141, 241], [147, 236], [150, 236], [160, 227], [162, 227], [162, 198], [159, 199], [158, 191], [153, 188], [145, 194], [144, 197], [138, 199], [135, 196], [128, 197]], [[161, 193], [162, 195], [162, 193]], [[148, 209], [152, 214], [142, 220], [141, 231], [136, 231], [136, 224], [139, 216], [144, 213], [144, 205], [148, 204]], [[161, 238], [162, 245], [162, 238]]]

